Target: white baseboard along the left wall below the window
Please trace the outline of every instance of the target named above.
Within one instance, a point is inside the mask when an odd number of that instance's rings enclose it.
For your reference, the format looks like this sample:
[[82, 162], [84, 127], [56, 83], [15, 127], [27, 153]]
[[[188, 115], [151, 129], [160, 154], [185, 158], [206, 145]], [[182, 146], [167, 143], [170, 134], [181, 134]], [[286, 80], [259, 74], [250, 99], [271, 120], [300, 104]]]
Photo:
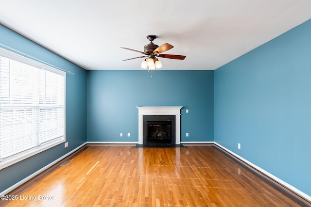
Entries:
[[77, 151], [78, 149], [80, 149], [81, 147], [83, 147], [84, 145], [86, 145], [86, 143], [81, 144], [80, 146], [78, 146], [77, 148], [73, 149], [72, 151], [70, 151], [69, 153], [67, 153], [66, 155], [54, 160], [53, 162], [51, 162], [50, 164], [46, 165], [45, 167], [41, 168], [40, 170], [36, 171], [35, 173], [33, 173], [32, 175], [29, 175], [28, 177], [22, 179], [21, 181], [19, 181], [18, 183], [14, 184], [13, 186], [11, 186], [10, 188], [0, 192], [0, 196], [2, 195], [6, 195], [9, 192], [13, 191], [14, 189], [18, 188], [19, 186], [21, 186], [22, 184], [26, 183], [28, 180], [32, 179], [33, 177], [35, 177], [36, 175], [39, 175], [40, 173], [42, 173], [43, 171], [47, 170], [48, 168], [52, 167], [54, 164], [56, 164], [57, 162], [59, 162], [60, 160], [68, 157], [70, 154], [74, 153], [75, 151]]

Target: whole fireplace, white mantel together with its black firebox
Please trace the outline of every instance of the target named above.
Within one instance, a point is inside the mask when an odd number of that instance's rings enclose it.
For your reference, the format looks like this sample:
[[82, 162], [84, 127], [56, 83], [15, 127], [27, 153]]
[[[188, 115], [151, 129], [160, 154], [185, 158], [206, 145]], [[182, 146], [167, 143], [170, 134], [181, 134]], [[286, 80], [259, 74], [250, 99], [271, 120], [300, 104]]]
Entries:
[[[180, 144], [180, 109], [182, 106], [138, 106], [137, 108], [138, 144]], [[147, 139], [148, 137], [150, 139]]]

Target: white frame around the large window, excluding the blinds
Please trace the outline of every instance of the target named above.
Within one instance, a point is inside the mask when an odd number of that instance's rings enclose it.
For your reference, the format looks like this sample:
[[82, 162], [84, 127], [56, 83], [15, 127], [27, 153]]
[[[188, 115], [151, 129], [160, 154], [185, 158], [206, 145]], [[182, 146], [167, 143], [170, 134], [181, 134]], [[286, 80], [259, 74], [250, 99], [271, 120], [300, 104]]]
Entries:
[[[52, 72], [52, 73], [55, 73], [55, 74], [58, 74], [58, 75], [61, 75], [64, 77], [64, 80], [63, 80], [64, 81], [64, 88], [63, 88], [63, 90], [64, 90], [64, 92], [63, 92], [63, 94], [64, 94], [63, 110], [64, 111], [62, 111], [62, 108], [61, 108], [61, 112], [63, 113], [63, 120], [64, 120], [63, 135], [58, 137], [58, 138], [55, 138], [49, 142], [38, 143], [35, 147], [32, 147], [30, 149], [26, 149], [22, 152], [11, 155], [9, 157], [4, 157], [4, 158], [0, 157], [0, 170], [1, 170], [5, 167], [8, 167], [12, 164], [15, 164], [21, 160], [27, 159], [27, 158], [34, 156], [40, 152], [43, 152], [47, 149], [50, 149], [50, 148], [52, 148], [58, 144], [66, 142], [66, 72], [58, 70], [58, 69], [53, 68], [53, 67], [46, 65], [46, 64], [41, 64], [41, 63], [34, 61], [30, 58], [18, 55], [17, 53], [11, 52], [11, 51], [3, 49], [3, 48], [0, 48], [0, 56], [5, 57], [5, 58], [9, 58], [11, 60], [14, 60], [14, 61], [17, 61], [17, 62], [20, 62], [23, 64], [33, 66], [35, 68], [39, 68], [39, 69], [44, 70], [44, 71]], [[45, 85], [45, 87], [46, 86], [47, 85]], [[45, 89], [45, 90], [47, 90], [47, 89]], [[25, 107], [25, 108], [27, 108], [27, 107]], [[0, 110], [1, 110], [1, 102], [0, 102]], [[1, 113], [0, 113], [0, 115], [1, 115]], [[0, 117], [0, 121], [1, 121], [1, 117]], [[33, 128], [32, 128], [32, 130], [33, 130]], [[60, 132], [60, 133], [62, 134], [62, 132]], [[35, 140], [36, 138], [33, 138], [33, 139]], [[1, 144], [1, 128], [0, 128], [0, 144]], [[0, 156], [1, 156], [1, 154], [0, 154]]]

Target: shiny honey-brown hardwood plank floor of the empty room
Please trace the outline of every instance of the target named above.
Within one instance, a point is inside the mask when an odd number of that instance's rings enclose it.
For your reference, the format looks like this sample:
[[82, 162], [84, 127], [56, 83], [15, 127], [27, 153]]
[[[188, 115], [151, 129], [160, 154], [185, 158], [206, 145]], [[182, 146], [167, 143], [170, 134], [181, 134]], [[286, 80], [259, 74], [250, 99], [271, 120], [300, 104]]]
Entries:
[[7, 207], [299, 206], [216, 147], [192, 145], [90, 145], [12, 193]]

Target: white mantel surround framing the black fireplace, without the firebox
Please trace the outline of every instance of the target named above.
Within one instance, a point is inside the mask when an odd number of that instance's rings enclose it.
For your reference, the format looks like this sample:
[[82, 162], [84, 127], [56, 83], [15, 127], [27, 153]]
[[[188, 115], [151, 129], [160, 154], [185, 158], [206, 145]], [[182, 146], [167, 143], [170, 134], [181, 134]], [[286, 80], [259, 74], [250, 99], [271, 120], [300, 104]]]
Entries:
[[175, 144], [180, 144], [180, 109], [182, 106], [137, 106], [138, 108], [138, 144], [143, 144], [143, 122], [144, 115], [169, 115], [175, 116], [176, 120], [176, 140]]

